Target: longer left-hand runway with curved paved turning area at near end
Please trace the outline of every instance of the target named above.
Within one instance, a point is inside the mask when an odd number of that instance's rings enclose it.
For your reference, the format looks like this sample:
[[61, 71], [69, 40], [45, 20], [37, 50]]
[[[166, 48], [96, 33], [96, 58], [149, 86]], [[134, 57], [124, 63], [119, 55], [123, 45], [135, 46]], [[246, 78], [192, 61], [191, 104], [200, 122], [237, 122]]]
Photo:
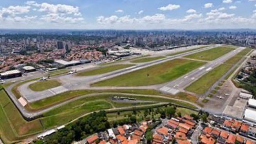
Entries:
[[125, 68], [125, 69], [121, 69], [121, 70], [117, 70], [117, 71], [113, 71], [113, 72], [109, 72], [109, 73], [105, 73], [105, 74], [100, 74], [100, 75], [83, 76], [83, 77], [78, 77], [78, 76], [73, 76], [73, 75], [59, 76], [58, 79], [63, 83], [63, 85], [61, 85], [59, 87], [47, 89], [47, 90], [41, 91], [41, 92], [33, 92], [28, 88], [28, 85], [33, 83], [33, 82], [26, 83], [26, 84], [19, 87], [19, 91], [20, 91], [21, 95], [29, 103], [31, 103], [33, 101], [37, 101], [37, 100], [44, 99], [44, 98], [47, 98], [47, 97], [50, 97], [50, 96], [54, 96], [54, 95], [62, 93], [62, 92], [66, 92], [66, 91], [70, 91], [70, 90], [77, 90], [77, 89], [87, 89], [87, 88], [90, 87], [91, 83], [95, 83], [95, 82], [98, 82], [98, 81], [110, 79], [110, 78], [118, 76], [118, 75], [122, 75], [122, 74], [125, 74], [125, 73], [129, 73], [129, 72], [132, 72], [132, 71], [143, 69], [143, 68], [146, 68], [146, 67], [150, 67], [150, 66], [155, 65], [155, 64], [159, 64], [159, 63], [162, 63], [162, 62], [173, 60], [173, 59], [183, 57], [183, 56], [186, 56], [186, 55], [190, 55], [190, 54], [200, 52], [200, 51], [203, 51], [203, 50], [211, 49], [211, 48], [214, 48], [214, 47], [217, 47], [217, 46], [219, 46], [219, 45], [209, 46], [209, 47], [206, 47], [206, 48], [181, 53], [181, 54], [178, 54], [178, 55], [175, 55], [175, 56], [170, 56], [170, 57], [167, 57], [167, 58], [164, 58], [164, 59], [155, 60], [155, 61], [151, 61], [151, 62], [147, 62], [147, 63], [140, 63], [140, 64], [137, 64], [133, 67], [129, 67], [129, 68]]

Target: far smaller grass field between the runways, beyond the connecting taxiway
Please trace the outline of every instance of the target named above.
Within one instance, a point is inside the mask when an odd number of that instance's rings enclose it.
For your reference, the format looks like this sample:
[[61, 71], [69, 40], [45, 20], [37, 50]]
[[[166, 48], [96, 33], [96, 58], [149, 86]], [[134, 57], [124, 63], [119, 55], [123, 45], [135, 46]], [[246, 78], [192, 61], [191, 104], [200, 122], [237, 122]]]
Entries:
[[209, 50], [197, 52], [192, 55], [185, 56], [185, 58], [212, 61], [212, 60], [215, 60], [215, 59], [221, 57], [222, 55], [225, 55], [226, 53], [228, 53], [232, 50], [234, 50], [234, 48], [216, 47], [216, 48], [212, 48]]

